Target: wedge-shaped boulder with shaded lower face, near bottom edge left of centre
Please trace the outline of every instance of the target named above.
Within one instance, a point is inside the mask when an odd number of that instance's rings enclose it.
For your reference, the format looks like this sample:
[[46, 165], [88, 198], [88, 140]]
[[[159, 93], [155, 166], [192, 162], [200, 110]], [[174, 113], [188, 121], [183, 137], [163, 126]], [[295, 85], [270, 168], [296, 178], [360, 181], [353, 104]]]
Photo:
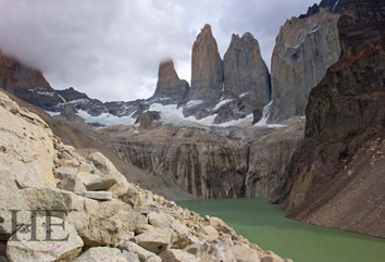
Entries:
[[156, 254], [169, 249], [172, 240], [173, 230], [169, 228], [156, 228], [135, 237], [136, 244]]

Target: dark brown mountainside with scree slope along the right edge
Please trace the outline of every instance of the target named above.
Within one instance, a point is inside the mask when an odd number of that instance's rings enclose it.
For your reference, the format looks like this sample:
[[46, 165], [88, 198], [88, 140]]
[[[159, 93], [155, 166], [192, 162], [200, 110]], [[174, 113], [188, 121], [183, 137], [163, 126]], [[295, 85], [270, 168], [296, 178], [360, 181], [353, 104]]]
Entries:
[[[341, 4], [341, 58], [310, 93], [306, 140], [273, 198], [284, 202], [293, 217], [382, 237], [385, 196], [380, 188], [385, 182], [378, 166], [384, 163], [384, 11], [383, 1], [347, 0]], [[359, 151], [361, 147], [367, 153]], [[368, 162], [368, 158], [372, 159]], [[365, 194], [362, 188], [368, 188]], [[341, 190], [351, 198], [343, 198]], [[375, 216], [367, 215], [374, 209]], [[320, 210], [331, 212], [330, 217]], [[343, 225], [346, 217], [349, 223]]]

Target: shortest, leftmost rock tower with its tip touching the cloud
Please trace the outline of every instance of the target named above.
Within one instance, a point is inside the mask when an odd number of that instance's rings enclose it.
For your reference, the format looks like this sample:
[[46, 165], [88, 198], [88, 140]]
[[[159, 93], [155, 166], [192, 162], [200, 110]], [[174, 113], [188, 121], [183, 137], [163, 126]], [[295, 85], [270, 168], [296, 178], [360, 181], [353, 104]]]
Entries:
[[188, 83], [177, 76], [174, 62], [164, 61], [159, 65], [157, 89], [151, 99], [163, 98], [169, 103], [179, 103], [186, 97], [188, 89]]

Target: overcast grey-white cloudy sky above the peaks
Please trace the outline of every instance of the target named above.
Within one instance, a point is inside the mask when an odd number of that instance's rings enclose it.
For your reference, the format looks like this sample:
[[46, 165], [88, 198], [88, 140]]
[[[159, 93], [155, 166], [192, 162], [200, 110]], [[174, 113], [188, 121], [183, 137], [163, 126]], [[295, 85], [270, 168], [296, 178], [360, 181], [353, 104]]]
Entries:
[[159, 62], [189, 82], [192, 42], [211, 24], [223, 57], [250, 32], [270, 65], [284, 22], [316, 0], [0, 0], [0, 49], [103, 101], [152, 95]]

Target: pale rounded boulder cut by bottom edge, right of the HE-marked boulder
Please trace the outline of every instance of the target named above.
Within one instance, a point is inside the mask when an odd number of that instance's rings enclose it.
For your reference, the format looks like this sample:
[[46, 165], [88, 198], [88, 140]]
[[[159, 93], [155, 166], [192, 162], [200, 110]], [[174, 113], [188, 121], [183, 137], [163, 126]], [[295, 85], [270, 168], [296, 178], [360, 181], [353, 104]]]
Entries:
[[74, 262], [127, 262], [134, 260], [127, 260], [127, 257], [121, 252], [117, 248], [90, 248], [78, 257]]

